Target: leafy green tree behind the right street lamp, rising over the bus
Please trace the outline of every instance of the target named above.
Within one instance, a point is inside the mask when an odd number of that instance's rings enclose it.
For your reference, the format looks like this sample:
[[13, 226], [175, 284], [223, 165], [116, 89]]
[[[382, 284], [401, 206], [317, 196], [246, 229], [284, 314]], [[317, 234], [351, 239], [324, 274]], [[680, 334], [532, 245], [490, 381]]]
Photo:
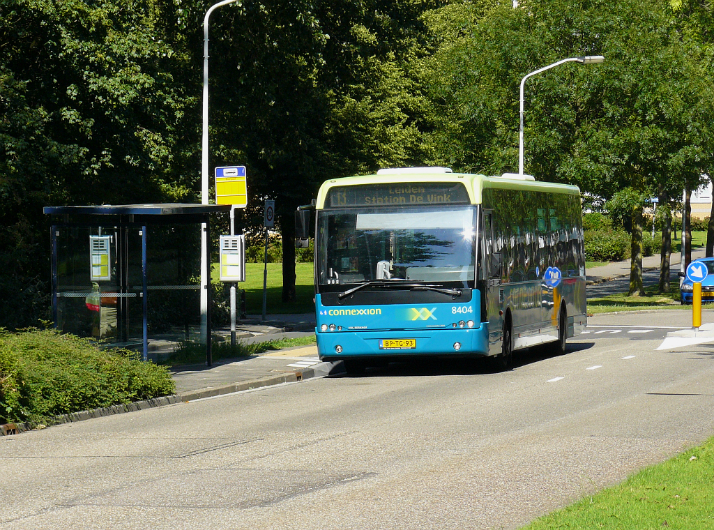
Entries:
[[[606, 199], [625, 187], [651, 196], [660, 183], [678, 196], [698, 183], [713, 151], [703, 119], [711, 81], [670, 4], [525, 0], [489, 11], [469, 30], [470, 39], [446, 60], [436, 54], [433, 65], [441, 81], [433, 101], [448, 120], [442, 159], [514, 171], [521, 78], [558, 59], [602, 54], [605, 64], [564, 64], [528, 81], [526, 172]], [[642, 207], [631, 216], [630, 293], [642, 294]]]

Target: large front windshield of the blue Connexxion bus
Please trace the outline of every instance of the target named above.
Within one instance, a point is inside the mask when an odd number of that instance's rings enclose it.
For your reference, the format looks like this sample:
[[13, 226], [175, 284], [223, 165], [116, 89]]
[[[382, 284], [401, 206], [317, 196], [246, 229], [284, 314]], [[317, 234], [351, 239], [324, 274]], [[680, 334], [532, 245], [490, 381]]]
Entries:
[[410, 280], [473, 287], [475, 226], [475, 206], [318, 211], [318, 284]]

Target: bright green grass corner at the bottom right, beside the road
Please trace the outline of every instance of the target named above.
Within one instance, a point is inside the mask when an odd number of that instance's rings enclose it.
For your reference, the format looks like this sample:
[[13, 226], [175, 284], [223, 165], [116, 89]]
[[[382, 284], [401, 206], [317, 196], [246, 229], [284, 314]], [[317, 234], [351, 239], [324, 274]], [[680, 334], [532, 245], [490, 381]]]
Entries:
[[714, 528], [714, 438], [522, 530]]

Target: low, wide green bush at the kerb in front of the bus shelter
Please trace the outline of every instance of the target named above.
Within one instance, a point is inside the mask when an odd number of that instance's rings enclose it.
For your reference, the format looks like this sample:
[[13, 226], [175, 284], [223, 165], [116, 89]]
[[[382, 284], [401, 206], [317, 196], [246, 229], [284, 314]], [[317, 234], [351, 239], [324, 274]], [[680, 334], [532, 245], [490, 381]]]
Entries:
[[123, 349], [53, 329], [0, 331], [0, 423], [54, 416], [174, 393], [169, 371]]

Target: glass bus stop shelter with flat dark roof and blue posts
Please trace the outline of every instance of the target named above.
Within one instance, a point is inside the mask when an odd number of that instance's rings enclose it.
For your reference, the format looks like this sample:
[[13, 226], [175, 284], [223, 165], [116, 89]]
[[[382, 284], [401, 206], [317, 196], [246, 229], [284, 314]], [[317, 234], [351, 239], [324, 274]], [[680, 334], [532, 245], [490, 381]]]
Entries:
[[[211, 214], [216, 204], [46, 206], [51, 216], [52, 314], [63, 332], [141, 351], [181, 341], [211, 364]], [[201, 230], [207, 232], [201, 304]]]

